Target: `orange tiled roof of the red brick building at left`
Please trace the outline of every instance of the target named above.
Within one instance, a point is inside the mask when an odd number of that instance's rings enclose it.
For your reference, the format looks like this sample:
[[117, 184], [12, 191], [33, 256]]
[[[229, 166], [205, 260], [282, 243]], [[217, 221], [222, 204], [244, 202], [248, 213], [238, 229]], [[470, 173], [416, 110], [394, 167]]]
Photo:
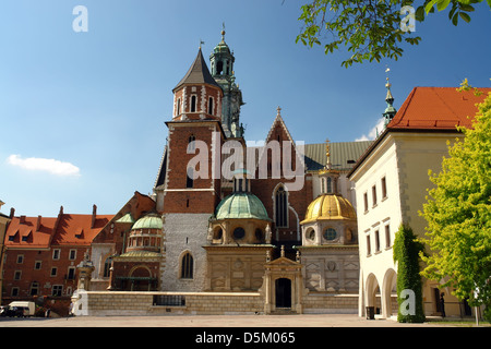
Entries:
[[[5, 232], [7, 248], [48, 249], [50, 245], [89, 245], [112, 215], [70, 215], [13, 217]], [[39, 221], [40, 219], [40, 221]], [[57, 222], [58, 221], [58, 222]]]

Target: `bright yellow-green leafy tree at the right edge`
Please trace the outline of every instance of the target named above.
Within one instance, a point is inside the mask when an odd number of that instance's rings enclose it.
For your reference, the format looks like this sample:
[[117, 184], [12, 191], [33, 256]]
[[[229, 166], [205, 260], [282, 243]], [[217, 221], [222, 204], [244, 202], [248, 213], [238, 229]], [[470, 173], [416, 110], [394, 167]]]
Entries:
[[491, 310], [491, 93], [472, 128], [458, 129], [464, 140], [448, 145], [440, 173], [429, 173], [435, 188], [420, 213], [428, 221], [421, 241], [431, 250], [422, 275]]

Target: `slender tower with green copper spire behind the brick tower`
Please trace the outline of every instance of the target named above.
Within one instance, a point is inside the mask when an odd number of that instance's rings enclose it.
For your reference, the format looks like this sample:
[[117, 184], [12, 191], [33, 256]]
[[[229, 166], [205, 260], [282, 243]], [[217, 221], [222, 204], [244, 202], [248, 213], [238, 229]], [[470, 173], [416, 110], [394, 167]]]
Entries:
[[221, 125], [227, 137], [243, 136], [243, 128], [240, 123], [240, 107], [244, 105], [242, 92], [236, 84], [233, 72], [233, 52], [225, 43], [225, 27], [221, 31], [221, 41], [213, 49], [209, 56], [212, 76], [224, 92], [221, 100]]

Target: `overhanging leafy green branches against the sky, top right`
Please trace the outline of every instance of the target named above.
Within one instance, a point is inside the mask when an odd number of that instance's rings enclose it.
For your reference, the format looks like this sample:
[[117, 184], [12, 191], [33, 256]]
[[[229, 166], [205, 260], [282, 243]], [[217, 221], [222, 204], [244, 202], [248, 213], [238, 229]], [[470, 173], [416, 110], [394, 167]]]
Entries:
[[[324, 45], [332, 53], [340, 45], [351, 57], [342, 65], [348, 68], [362, 61], [397, 60], [403, 56], [404, 44], [418, 45], [421, 37], [414, 35], [414, 21], [422, 22], [426, 15], [450, 8], [448, 20], [470, 22], [470, 12], [483, 0], [313, 0], [301, 7], [299, 21], [304, 24], [297, 43], [306, 46]], [[486, 0], [491, 8], [491, 0]], [[410, 7], [410, 8], [405, 8]], [[321, 43], [321, 41], [324, 41]]]

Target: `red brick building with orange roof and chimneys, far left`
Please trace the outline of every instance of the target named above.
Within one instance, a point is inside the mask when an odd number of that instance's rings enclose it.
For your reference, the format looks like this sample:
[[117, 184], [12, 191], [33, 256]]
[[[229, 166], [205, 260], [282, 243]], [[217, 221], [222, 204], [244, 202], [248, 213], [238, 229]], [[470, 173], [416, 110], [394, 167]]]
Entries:
[[[49, 308], [68, 312], [76, 289], [76, 266], [113, 215], [63, 213], [58, 217], [14, 216], [4, 238], [2, 302], [51, 299]], [[43, 301], [39, 302], [40, 304]]]

